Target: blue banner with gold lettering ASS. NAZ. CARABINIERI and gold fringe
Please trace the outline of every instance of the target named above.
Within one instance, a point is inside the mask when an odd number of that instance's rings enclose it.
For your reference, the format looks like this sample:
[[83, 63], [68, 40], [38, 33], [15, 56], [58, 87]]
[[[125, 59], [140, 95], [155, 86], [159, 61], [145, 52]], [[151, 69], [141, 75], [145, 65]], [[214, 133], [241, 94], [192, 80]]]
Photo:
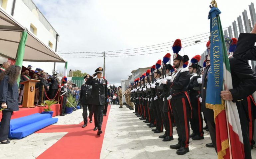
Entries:
[[206, 90], [206, 108], [214, 108], [217, 105], [223, 105], [220, 97], [220, 91], [223, 89], [223, 49], [220, 37], [219, 24], [217, 16], [220, 14], [218, 8], [212, 7], [208, 19], [210, 19], [210, 69], [207, 78]]

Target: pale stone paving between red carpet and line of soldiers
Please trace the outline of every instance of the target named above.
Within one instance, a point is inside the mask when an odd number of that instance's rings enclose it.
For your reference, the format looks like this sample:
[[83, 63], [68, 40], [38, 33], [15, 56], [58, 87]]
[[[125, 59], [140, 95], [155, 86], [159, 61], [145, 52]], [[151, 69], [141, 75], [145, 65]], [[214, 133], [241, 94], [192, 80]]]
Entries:
[[[163, 133], [153, 133], [145, 123], [138, 119], [128, 108], [118, 108], [111, 105], [106, 133], [101, 149], [101, 159], [217, 159], [214, 148], [205, 147], [210, 143], [209, 132], [204, 133], [204, 139], [190, 139], [190, 152], [177, 155], [176, 150], [170, 149], [171, 144], [178, 143], [177, 131], [174, 127], [174, 140], [163, 142], [158, 138]], [[192, 132], [191, 132], [192, 133]], [[256, 149], [252, 150], [252, 158], [256, 158]]]

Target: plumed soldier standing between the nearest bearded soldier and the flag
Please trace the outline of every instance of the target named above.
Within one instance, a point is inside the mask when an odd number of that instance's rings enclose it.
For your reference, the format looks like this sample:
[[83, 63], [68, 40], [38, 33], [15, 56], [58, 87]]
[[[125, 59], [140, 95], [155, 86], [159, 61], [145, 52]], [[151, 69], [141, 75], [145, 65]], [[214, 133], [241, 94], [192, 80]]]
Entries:
[[198, 73], [200, 72], [201, 66], [198, 65], [201, 56], [196, 55], [191, 59], [189, 64], [189, 72], [191, 74], [188, 93], [190, 96], [191, 106], [192, 106], [192, 118], [190, 119], [192, 134], [192, 140], [201, 140], [203, 139], [203, 121], [201, 114], [201, 103], [199, 101], [199, 84], [197, 82], [198, 78], [201, 78]]

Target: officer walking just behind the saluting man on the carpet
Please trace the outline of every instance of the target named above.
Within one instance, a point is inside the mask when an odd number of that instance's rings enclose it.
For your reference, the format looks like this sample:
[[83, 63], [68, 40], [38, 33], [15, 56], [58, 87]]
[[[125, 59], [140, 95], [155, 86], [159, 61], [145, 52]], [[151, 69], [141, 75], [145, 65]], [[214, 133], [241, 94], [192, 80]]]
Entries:
[[[89, 74], [85, 75], [84, 81], [86, 82], [87, 79], [89, 79], [91, 76]], [[89, 119], [90, 119], [90, 123], [92, 123], [92, 105], [91, 105], [91, 91], [92, 91], [92, 85], [86, 85], [83, 84], [81, 85], [81, 91], [80, 91], [80, 103], [83, 107], [83, 126], [82, 128], [87, 126], [87, 109], [89, 109]]]

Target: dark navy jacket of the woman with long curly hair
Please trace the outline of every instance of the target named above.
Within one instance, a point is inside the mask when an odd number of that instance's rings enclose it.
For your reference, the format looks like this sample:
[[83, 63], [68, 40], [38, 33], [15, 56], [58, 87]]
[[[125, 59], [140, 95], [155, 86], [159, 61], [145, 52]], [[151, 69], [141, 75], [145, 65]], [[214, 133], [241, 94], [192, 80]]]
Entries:
[[13, 85], [8, 83], [8, 76], [5, 76], [3, 80], [0, 81], [0, 104], [6, 103], [7, 108], [4, 111], [17, 111], [19, 110], [18, 103], [18, 85], [15, 82]]

